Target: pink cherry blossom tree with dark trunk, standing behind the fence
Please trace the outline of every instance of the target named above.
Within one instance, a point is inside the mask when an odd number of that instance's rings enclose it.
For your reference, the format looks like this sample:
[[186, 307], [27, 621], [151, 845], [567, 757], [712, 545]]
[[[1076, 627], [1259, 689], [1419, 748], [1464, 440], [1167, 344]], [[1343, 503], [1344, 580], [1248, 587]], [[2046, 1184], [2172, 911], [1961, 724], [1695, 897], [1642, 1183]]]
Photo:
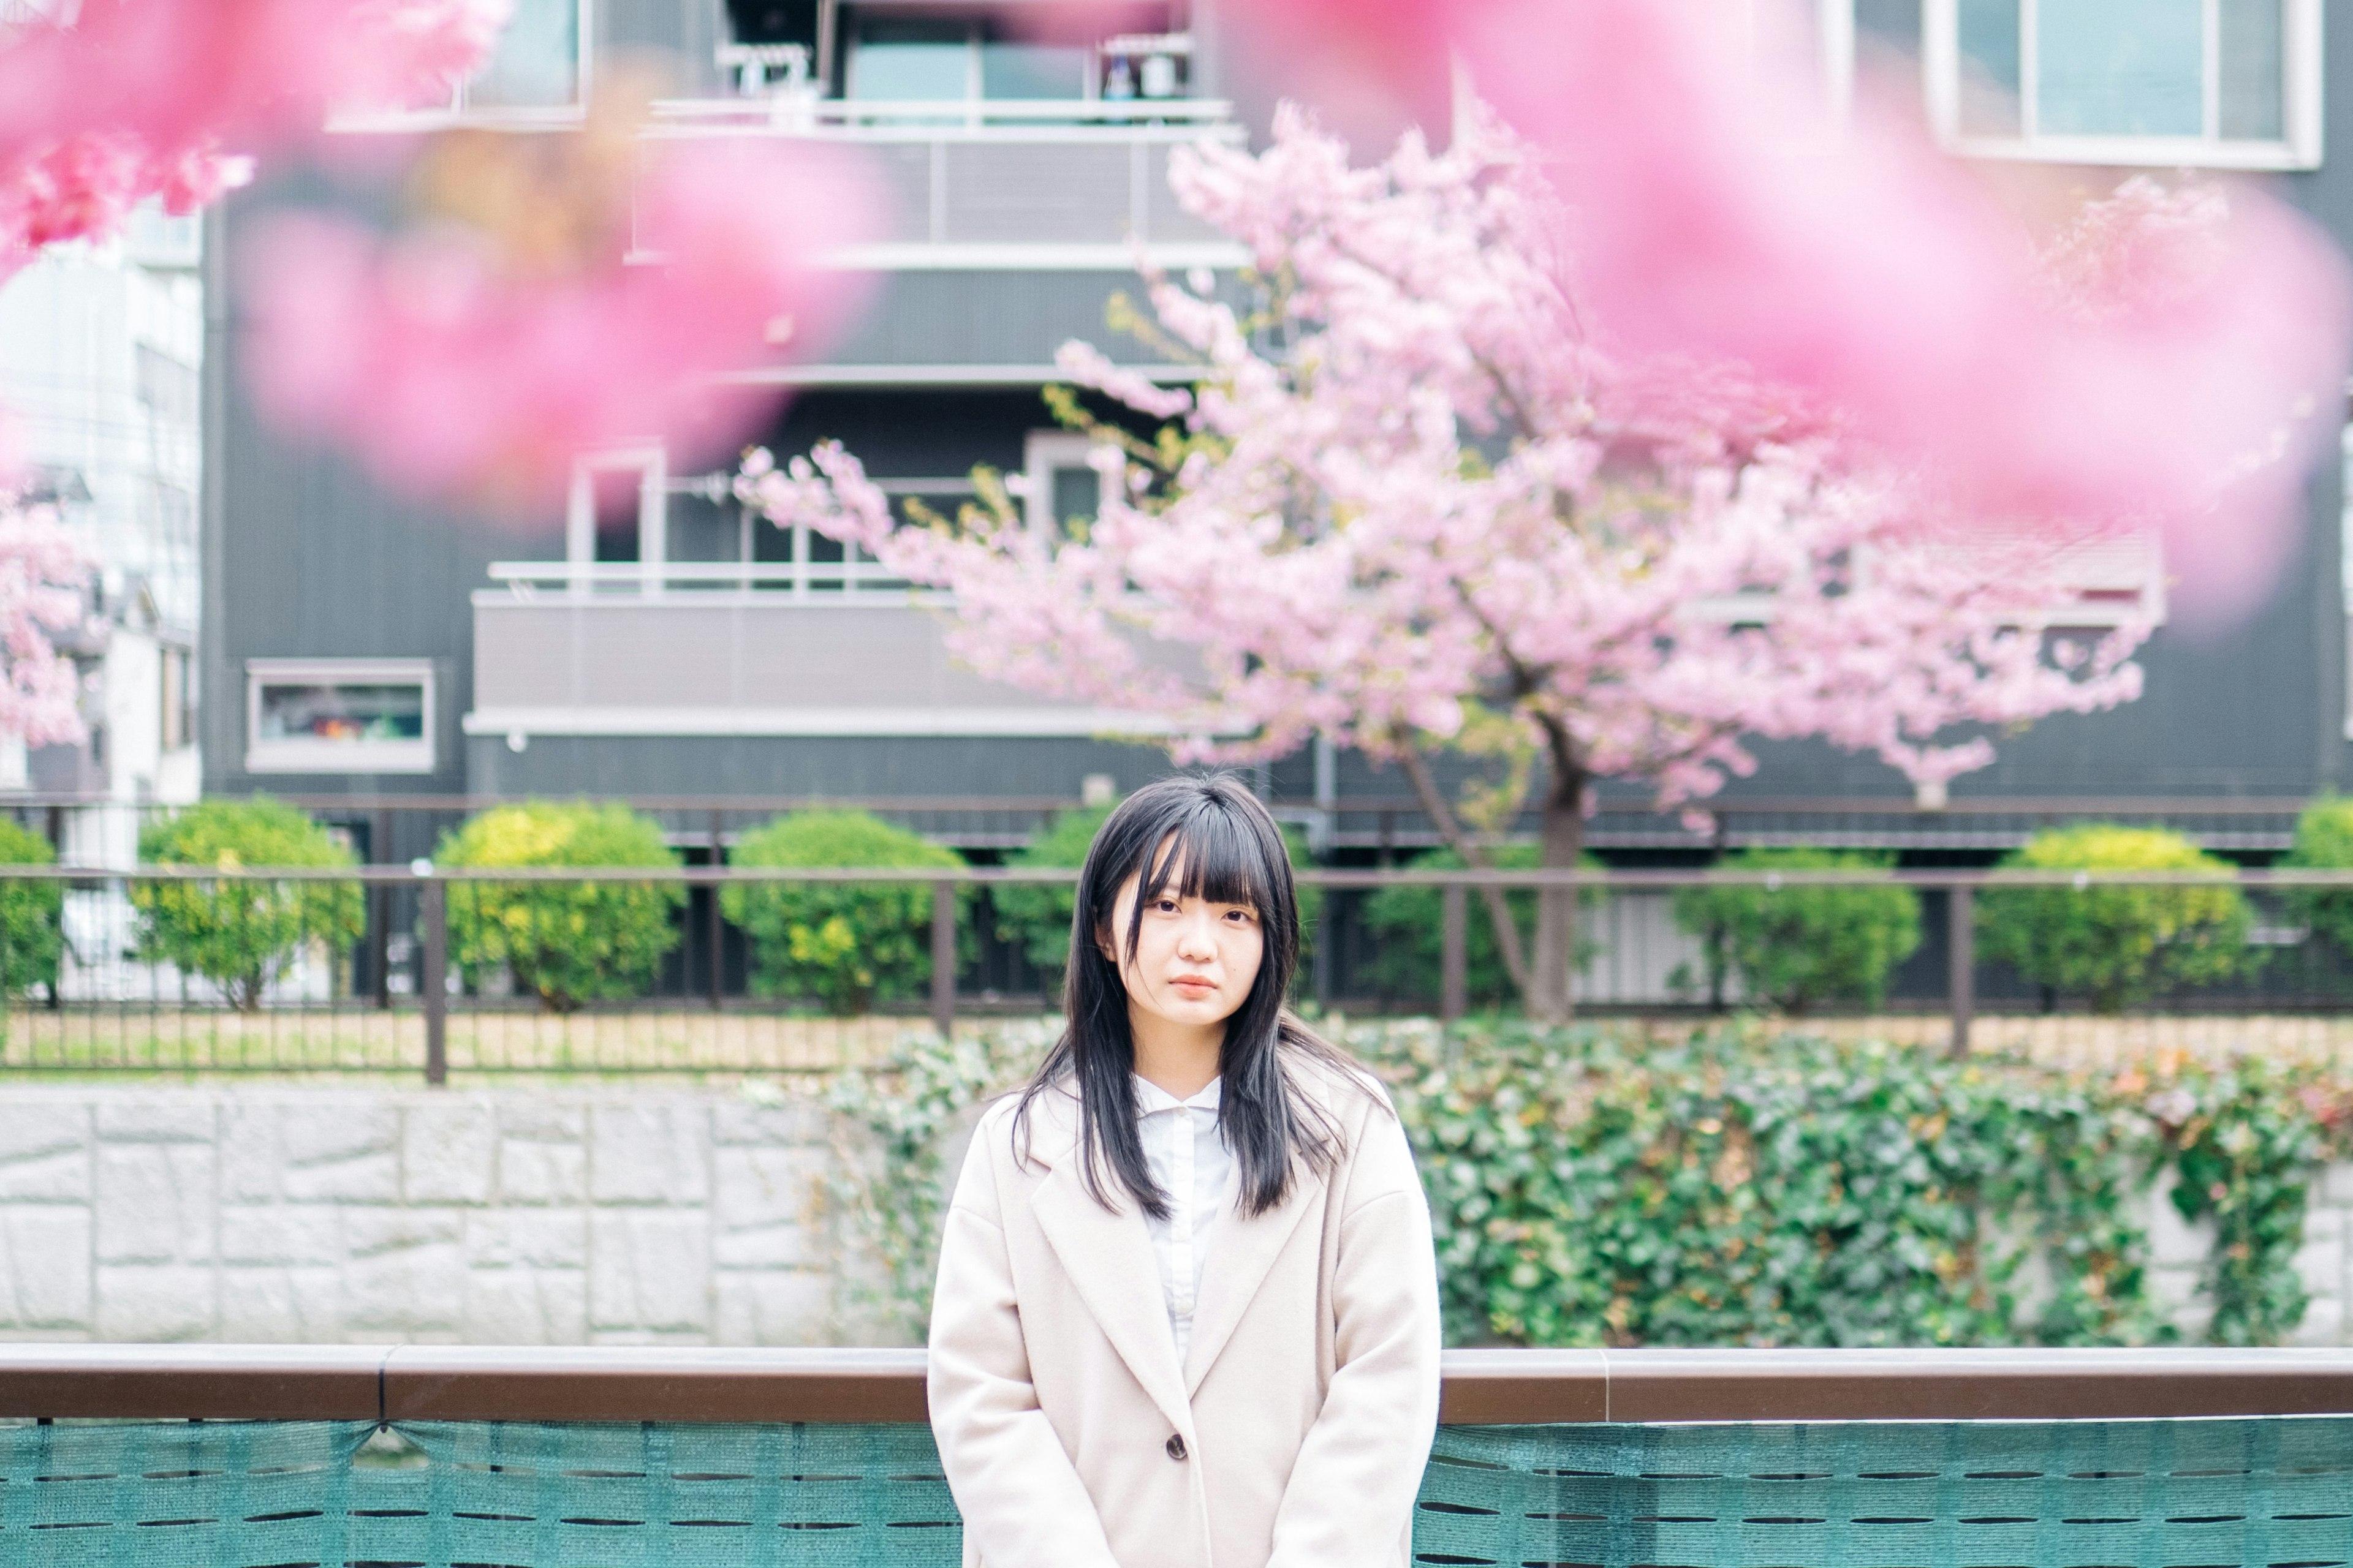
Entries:
[[[1541, 764], [1544, 865], [1574, 867], [1600, 778], [1699, 802], [1751, 771], [1748, 738], [1812, 736], [1941, 783], [1993, 757], [1988, 726], [2139, 693], [2148, 625], [2068, 621], [2073, 555], [2113, 520], [1995, 529], [1835, 409], [1612, 353], [1562, 284], [1551, 188], [1492, 120], [1353, 169], [1285, 113], [1266, 153], [1200, 148], [1172, 179], [1264, 299], [1148, 277], [1146, 329], [1198, 364], [1184, 388], [1064, 350], [1125, 409], [1075, 414], [1101, 440], [1092, 524], [1033, 529], [981, 475], [984, 505], [899, 527], [840, 447], [753, 454], [739, 491], [951, 588], [951, 646], [984, 675], [1174, 724], [1181, 759], [1325, 736], [1398, 762], [1471, 865], [1440, 750], [1511, 764], [1468, 802], [1504, 813]], [[2094, 209], [2064, 247], [2085, 308], [2125, 303], [2089, 252], [2198, 233], [2217, 200], [2134, 186]], [[1487, 905], [1529, 1009], [1565, 1016], [1574, 893], [1539, 896], [1532, 952]]]

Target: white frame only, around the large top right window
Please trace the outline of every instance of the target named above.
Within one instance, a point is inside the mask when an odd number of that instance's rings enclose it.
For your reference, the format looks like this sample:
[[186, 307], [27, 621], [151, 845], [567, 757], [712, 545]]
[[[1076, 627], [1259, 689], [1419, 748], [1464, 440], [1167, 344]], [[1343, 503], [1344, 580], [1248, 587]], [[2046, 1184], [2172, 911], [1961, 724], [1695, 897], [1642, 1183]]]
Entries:
[[1960, 129], [1960, 5], [1925, 0], [1920, 16], [1920, 73], [1929, 122], [1946, 148], [1967, 158], [2017, 162], [2073, 162], [2155, 169], [2318, 169], [2322, 153], [2322, 101], [2327, 56], [2322, 49], [2322, 0], [2282, 0], [2280, 38], [2280, 139], [2224, 141], [2219, 134], [2219, 71], [2214, 47], [2217, 0], [2207, 5], [2205, 118], [2214, 134], [2200, 136], [2047, 136], [2035, 129], [2033, 35], [2038, 0], [2019, 0], [2019, 127], [2017, 136], [1965, 136]]

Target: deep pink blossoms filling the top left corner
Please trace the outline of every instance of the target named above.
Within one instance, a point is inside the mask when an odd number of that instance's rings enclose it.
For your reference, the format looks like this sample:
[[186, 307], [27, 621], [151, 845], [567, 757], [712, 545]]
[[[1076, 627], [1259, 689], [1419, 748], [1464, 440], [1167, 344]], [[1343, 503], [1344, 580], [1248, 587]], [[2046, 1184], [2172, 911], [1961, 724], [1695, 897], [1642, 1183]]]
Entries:
[[513, 0], [82, 0], [0, 28], [0, 275], [181, 214], [332, 108], [447, 99]]

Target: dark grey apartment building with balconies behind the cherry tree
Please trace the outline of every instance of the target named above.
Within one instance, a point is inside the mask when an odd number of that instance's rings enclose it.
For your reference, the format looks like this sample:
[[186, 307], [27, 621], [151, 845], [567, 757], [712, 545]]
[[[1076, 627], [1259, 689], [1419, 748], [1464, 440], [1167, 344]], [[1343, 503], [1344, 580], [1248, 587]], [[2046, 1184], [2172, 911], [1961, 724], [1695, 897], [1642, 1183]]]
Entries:
[[[341, 134], [560, 134], [600, 61], [652, 47], [680, 85], [649, 134], [866, 146], [889, 172], [896, 230], [840, 261], [875, 273], [878, 301], [824, 362], [753, 376], [793, 393], [769, 444], [840, 437], [885, 489], [946, 508], [991, 463], [1061, 517], [1092, 505], [1094, 475], [1040, 400], [1054, 348], [1087, 336], [1179, 374], [1111, 336], [1106, 301], [1134, 287], [1139, 242], [1165, 266], [1238, 263], [1176, 207], [1165, 169], [1186, 141], [1249, 139], [1261, 110], [1226, 96], [1245, 61], [1212, 5], [1122, 7], [1129, 31], [1056, 45], [1005, 31], [1002, 9], [520, 0], [447, 110]], [[2087, 190], [2137, 167], [2257, 174], [2353, 235], [2353, 148], [2325, 115], [2327, 87], [2353, 82], [2353, 31], [2325, 28], [2320, 0], [1819, 0], [1814, 16], [1833, 113], [1857, 56], [1894, 56], [1955, 158], [2064, 165]], [[1252, 82], [1280, 78], [1247, 63]], [[1148, 743], [1106, 741], [1104, 715], [958, 670], [936, 618], [868, 562], [744, 515], [725, 473], [661, 449], [581, 454], [562, 510], [487, 529], [285, 444], [247, 404], [238, 306], [219, 284], [240, 233], [299, 197], [299, 183], [238, 193], [207, 249], [209, 792], [1078, 797], [1082, 780], [1127, 788], [1165, 766]], [[2346, 783], [2344, 494], [2339, 475], [2315, 477], [2306, 552], [2261, 616], [2207, 637], [2160, 630], [2148, 696], [2005, 736], [1955, 806]], [[2162, 604], [2162, 564], [2127, 562], [2104, 588]], [[1734, 797], [1913, 804], [1875, 759], [1760, 755]], [[1266, 780], [1308, 809], [1405, 795], [1327, 752]], [[1358, 818], [1351, 832], [1377, 830]]]

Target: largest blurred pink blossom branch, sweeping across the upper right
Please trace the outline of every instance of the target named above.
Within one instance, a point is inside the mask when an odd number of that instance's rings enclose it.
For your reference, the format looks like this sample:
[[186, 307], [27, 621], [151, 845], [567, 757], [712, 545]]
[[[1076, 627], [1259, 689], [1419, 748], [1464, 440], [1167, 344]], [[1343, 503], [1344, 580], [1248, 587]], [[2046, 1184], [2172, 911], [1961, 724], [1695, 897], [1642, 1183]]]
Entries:
[[1628, 348], [1741, 362], [1972, 515], [2153, 524], [2193, 618], [2249, 611], [2299, 538], [2353, 315], [2337, 249], [2259, 190], [2233, 188], [2193, 244], [2153, 226], [2054, 296], [2028, 226], [1892, 82], [1866, 75], [1833, 134], [1809, 66], [1715, 7], [1280, 0], [1235, 19], [1400, 92], [1454, 49], [1548, 153], [1581, 301]]

